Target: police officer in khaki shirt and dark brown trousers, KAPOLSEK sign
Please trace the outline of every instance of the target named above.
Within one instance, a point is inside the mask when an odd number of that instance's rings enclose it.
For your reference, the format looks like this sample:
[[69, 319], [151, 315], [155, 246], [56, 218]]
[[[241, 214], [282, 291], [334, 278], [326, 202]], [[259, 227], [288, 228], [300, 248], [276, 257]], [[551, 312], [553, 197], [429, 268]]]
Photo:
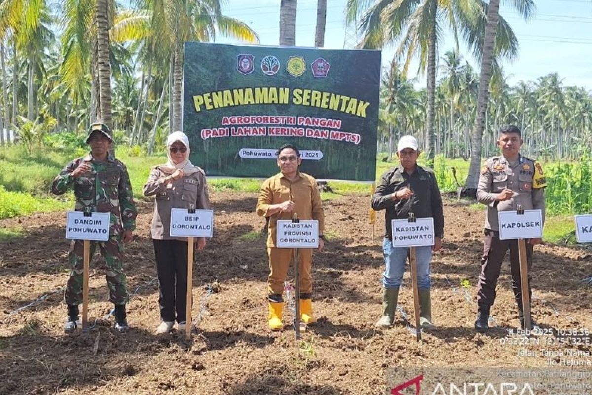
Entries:
[[[525, 210], [541, 210], [543, 221], [545, 220], [545, 176], [539, 163], [520, 155], [520, 147], [523, 143], [520, 129], [516, 126], [502, 127], [497, 140], [497, 146], [502, 155], [488, 159], [479, 176], [477, 200], [487, 205], [485, 245], [477, 288], [479, 311], [475, 321], [475, 329], [481, 333], [489, 330], [490, 307], [496, 300], [497, 279], [500, 276], [501, 262], [508, 249], [510, 249], [512, 291], [520, 310], [522, 326], [524, 326], [518, 241], [499, 239], [497, 219], [498, 211], [516, 210], [517, 205], [522, 205]], [[540, 243], [540, 239], [530, 239], [526, 243], [529, 269], [532, 268], [532, 248]], [[529, 294], [532, 294], [530, 288]], [[534, 326], [532, 319], [531, 322]]]

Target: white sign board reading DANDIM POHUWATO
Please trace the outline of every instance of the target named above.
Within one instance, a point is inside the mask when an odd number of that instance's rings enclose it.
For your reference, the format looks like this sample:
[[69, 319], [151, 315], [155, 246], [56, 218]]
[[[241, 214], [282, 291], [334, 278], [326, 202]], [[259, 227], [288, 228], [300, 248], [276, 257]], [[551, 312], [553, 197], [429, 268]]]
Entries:
[[82, 211], [68, 211], [66, 239], [106, 242], [109, 240], [110, 216], [110, 213], [91, 213], [90, 217], [85, 217]]

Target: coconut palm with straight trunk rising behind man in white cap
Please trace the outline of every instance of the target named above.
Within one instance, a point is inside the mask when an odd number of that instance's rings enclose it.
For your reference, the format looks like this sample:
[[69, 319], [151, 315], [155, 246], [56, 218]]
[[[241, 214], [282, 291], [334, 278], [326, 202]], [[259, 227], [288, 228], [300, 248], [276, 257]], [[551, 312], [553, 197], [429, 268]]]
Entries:
[[[530, 1], [530, 0], [519, 0]], [[435, 153], [435, 108], [436, 94], [436, 48], [446, 27], [453, 32], [458, 44], [458, 33], [469, 44], [472, 51], [482, 54], [482, 41], [479, 37], [485, 30], [482, 15], [486, 4], [482, 0], [377, 0], [368, 7], [369, 0], [348, 0], [348, 23], [359, 21], [363, 38], [359, 47], [381, 48], [400, 40], [398, 57], [405, 57], [404, 72], [411, 60], [419, 57], [420, 71], [427, 70], [427, 119], [426, 156], [429, 161]], [[517, 50], [516, 38], [510, 26], [499, 18], [500, 34], [496, 37], [497, 54], [514, 53]]]

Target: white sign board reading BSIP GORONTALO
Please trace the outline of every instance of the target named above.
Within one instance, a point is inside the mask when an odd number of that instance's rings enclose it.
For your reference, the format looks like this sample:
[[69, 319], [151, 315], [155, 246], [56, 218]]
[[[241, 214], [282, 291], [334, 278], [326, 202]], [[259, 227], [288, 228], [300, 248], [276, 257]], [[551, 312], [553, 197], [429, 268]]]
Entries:
[[195, 210], [195, 214], [189, 214], [186, 208], [170, 209], [170, 236], [212, 237], [213, 231], [213, 210]]

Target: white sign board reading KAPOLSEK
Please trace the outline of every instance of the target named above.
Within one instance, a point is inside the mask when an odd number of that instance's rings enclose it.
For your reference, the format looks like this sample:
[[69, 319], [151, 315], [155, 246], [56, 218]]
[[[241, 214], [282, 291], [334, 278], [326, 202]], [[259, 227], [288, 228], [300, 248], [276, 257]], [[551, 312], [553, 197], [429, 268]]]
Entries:
[[540, 239], [543, 237], [543, 217], [540, 210], [499, 211], [500, 240]]

